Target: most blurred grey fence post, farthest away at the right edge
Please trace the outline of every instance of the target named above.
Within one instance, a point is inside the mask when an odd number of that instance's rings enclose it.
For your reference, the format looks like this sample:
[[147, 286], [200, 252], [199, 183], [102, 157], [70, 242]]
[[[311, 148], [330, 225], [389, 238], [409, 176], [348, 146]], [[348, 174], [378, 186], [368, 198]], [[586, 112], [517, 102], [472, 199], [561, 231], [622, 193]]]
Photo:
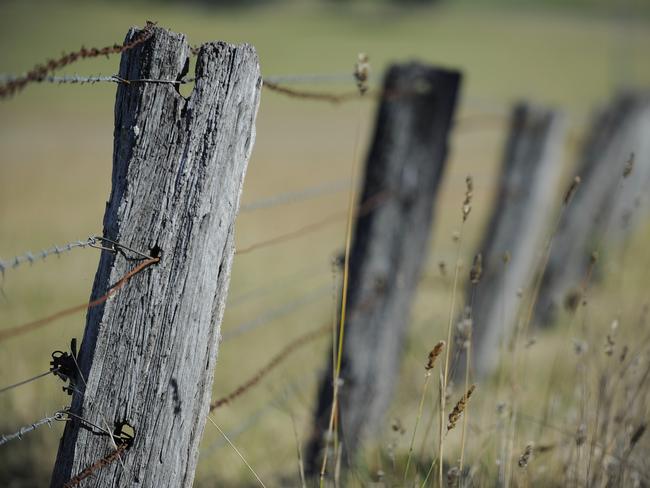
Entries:
[[[632, 224], [647, 212], [648, 134], [648, 94], [620, 95], [597, 115], [576, 170], [582, 182], [553, 240], [535, 309], [538, 323], [551, 323], [559, 307], [580, 294], [592, 252], [600, 249], [600, 244], [623, 240]], [[632, 154], [634, 167], [624, 180], [623, 172]]]

